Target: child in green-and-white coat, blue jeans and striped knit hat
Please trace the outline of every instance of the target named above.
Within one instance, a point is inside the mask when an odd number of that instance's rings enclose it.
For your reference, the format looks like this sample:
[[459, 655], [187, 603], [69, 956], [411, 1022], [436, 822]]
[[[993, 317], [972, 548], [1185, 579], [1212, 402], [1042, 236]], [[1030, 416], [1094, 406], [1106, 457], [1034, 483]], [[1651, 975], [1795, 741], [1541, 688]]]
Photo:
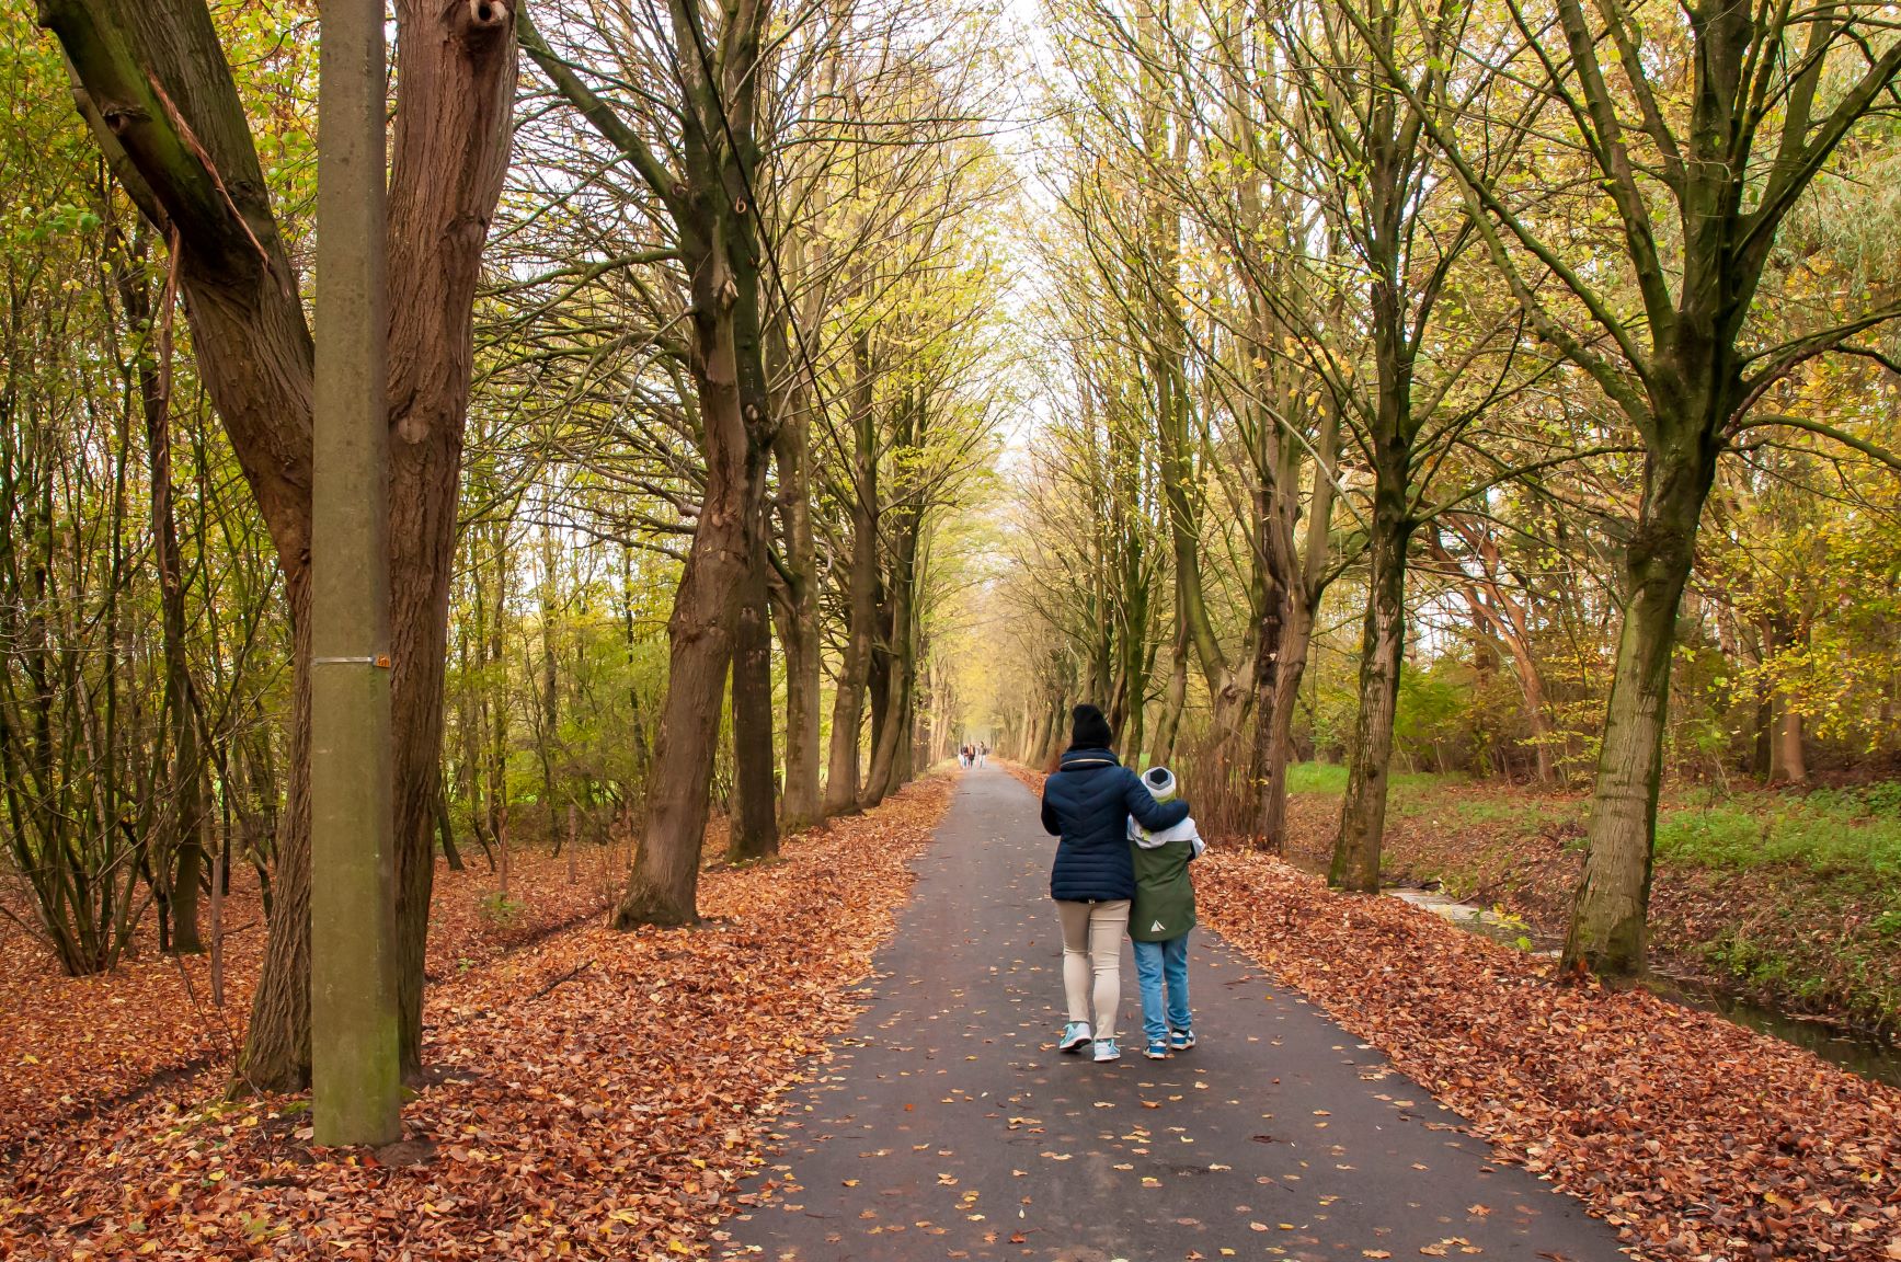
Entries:
[[[1143, 787], [1156, 802], [1175, 798], [1175, 775], [1163, 766], [1143, 772]], [[1203, 844], [1194, 817], [1160, 832], [1129, 819], [1129, 842], [1135, 851], [1129, 937], [1135, 939], [1135, 977], [1143, 988], [1143, 1055], [1163, 1061], [1171, 1051], [1194, 1047], [1194, 1017], [1188, 1011], [1194, 884], [1188, 865], [1201, 855]]]

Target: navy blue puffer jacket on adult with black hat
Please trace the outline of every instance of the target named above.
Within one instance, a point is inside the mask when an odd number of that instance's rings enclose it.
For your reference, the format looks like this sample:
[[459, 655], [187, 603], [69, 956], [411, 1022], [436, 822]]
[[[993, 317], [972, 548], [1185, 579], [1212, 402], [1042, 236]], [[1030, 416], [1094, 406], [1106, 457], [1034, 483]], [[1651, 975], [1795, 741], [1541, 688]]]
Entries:
[[1044, 831], [1057, 842], [1049, 897], [1106, 903], [1135, 897], [1129, 859], [1129, 815], [1158, 832], [1188, 817], [1186, 802], [1156, 802], [1143, 777], [1106, 749], [1072, 749], [1044, 781]]

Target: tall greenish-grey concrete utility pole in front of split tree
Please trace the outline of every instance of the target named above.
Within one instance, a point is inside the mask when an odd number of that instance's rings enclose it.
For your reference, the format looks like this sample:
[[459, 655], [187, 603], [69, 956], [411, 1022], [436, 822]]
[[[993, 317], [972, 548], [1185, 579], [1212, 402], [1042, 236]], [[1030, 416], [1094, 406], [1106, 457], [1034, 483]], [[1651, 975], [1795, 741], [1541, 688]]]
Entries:
[[310, 532], [310, 1026], [319, 1144], [401, 1133], [390, 806], [382, 0], [323, 0]]

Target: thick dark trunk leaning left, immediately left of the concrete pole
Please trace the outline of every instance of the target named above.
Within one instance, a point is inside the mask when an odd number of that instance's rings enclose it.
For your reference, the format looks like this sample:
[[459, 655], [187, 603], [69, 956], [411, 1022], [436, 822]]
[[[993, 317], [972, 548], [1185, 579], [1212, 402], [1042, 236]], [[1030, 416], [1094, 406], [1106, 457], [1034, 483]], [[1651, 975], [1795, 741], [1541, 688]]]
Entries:
[[198, 371], [285, 576], [295, 646], [289, 810], [241, 1072], [295, 1091], [310, 1081], [310, 329], [205, 6], [48, 0], [40, 21], [67, 53], [80, 114], [114, 175], [148, 222], [177, 230]]

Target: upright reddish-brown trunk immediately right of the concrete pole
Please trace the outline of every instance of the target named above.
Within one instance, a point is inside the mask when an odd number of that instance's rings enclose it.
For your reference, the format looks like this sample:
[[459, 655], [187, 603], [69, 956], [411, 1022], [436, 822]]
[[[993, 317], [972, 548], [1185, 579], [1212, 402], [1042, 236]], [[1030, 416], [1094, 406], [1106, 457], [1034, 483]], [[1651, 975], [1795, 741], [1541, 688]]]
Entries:
[[[519, 2], [519, 0], [517, 0]], [[397, 0], [390, 169], [390, 737], [403, 1074], [422, 1068], [422, 969], [435, 882], [432, 808], [475, 283], [508, 173], [509, 10]]]

